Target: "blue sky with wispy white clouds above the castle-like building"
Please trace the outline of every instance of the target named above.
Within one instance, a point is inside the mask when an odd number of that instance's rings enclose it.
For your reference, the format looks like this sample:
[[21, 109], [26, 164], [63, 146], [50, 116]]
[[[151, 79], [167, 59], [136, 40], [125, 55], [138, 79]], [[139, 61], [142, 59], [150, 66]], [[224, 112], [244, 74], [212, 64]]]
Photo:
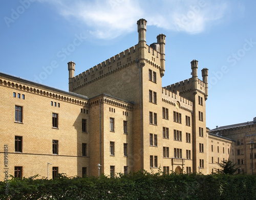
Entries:
[[255, 112], [256, 1], [20, 0], [0, 3], [0, 71], [68, 91], [75, 75], [138, 43], [166, 35], [163, 86], [209, 69], [206, 125], [252, 121]]

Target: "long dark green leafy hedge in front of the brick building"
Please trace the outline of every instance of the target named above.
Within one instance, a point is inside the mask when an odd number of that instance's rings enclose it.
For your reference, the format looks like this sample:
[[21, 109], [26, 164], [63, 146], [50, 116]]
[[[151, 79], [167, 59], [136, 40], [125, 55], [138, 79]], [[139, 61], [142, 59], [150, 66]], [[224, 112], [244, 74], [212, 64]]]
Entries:
[[137, 172], [115, 179], [59, 175], [49, 181], [34, 176], [0, 182], [0, 199], [256, 199], [256, 176]]

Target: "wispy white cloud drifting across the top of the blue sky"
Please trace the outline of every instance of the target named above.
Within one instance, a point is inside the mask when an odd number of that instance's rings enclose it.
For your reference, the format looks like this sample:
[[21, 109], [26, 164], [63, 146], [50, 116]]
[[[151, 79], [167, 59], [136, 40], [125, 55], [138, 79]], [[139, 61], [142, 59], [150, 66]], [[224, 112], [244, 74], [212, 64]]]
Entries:
[[175, 32], [197, 34], [225, 20], [231, 12], [229, 1], [196, 0], [38, 0], [56, 6], [59, 14], [76, 18], [98, 38], [112, 39], [136, 29], [135, 22], [145, 18], [154, 25]]

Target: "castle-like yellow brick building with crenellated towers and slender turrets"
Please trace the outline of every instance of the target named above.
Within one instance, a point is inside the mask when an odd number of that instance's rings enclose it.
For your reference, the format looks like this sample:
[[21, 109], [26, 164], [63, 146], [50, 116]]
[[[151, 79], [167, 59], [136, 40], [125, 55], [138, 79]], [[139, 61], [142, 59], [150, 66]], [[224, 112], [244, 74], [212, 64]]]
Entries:
[[51, 179], [158, 168], [208, 174], [218, 168], [212, 157], [229, 159], [233, 141], [206, 129], [208, 69], [200, 80], [193, 60], [189, 79], [162, 87], [165, 35], [148, 46], [146, 20], [137, 25], [137, 45], [77, 76], [70, 61], [70, 92], [0, 74], [7, 174]]

